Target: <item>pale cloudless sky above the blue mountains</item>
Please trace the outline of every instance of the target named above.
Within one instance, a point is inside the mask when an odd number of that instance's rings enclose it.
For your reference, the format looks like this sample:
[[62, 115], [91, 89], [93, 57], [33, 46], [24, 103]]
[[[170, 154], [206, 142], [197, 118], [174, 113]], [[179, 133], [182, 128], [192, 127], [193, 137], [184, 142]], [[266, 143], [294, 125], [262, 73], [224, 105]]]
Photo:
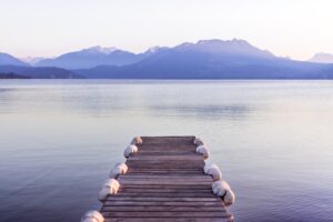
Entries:
[[0, 0], [0, 51], [21, 58], [233, 38], [299, 60], [333, 53], [333, 0]]

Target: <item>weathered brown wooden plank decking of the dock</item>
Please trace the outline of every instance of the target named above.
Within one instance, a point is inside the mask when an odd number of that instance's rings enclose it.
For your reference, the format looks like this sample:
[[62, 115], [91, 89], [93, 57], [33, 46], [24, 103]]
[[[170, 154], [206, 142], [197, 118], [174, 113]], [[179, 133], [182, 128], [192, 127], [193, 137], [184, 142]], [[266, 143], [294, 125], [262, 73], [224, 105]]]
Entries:
[[212, 179], [203, 172], [194, 137], [142, 137], [139, 152], [127, 159], [129, 170], [118, 181], [118, 194], [101, 208], [113, 221], [233, 221]]

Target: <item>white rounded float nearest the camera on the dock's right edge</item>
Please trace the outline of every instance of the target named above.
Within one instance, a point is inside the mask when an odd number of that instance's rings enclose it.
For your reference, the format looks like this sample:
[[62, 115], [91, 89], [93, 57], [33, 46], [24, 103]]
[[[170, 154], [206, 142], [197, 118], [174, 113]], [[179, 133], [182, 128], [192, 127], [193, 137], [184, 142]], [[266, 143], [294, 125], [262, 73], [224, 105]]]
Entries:
[[215, 195], [221, 196], [225, 205], [231, 205], [235, 201], [235, 195], [230, 185], [225, 181], [215, 181], [212, 184], [212, 190]]

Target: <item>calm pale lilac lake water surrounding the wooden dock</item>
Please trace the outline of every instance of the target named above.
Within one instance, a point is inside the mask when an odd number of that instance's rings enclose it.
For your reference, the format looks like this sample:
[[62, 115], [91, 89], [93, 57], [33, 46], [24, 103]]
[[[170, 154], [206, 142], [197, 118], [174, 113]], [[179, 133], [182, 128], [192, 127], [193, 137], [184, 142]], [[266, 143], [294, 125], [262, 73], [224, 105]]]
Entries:
[[332, 81], [0, 81], [0, 221], [79, 221], [133, 135], [199, 135], [236, 221], [333, 220]]

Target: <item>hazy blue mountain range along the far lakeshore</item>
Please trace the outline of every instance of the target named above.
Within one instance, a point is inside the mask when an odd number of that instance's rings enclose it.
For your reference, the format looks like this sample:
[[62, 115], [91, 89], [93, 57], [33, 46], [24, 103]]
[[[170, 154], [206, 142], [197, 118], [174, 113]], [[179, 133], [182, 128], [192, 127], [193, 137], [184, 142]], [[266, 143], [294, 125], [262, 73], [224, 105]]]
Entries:
[[[333, 79], [333, 63], [327, 59], [327, 63], [320, 63], [323, 60], [317, 56], [310, 61], [295, 61], [239, 39], [155, 47], [143, 53], [93, 47], [53, 59], [40, 59], [33, 67], [9, 54], [3, 58], [0, 57], [0, 73], [31, 78]], [[6, 62], [11, 65], [1, 65]]]

